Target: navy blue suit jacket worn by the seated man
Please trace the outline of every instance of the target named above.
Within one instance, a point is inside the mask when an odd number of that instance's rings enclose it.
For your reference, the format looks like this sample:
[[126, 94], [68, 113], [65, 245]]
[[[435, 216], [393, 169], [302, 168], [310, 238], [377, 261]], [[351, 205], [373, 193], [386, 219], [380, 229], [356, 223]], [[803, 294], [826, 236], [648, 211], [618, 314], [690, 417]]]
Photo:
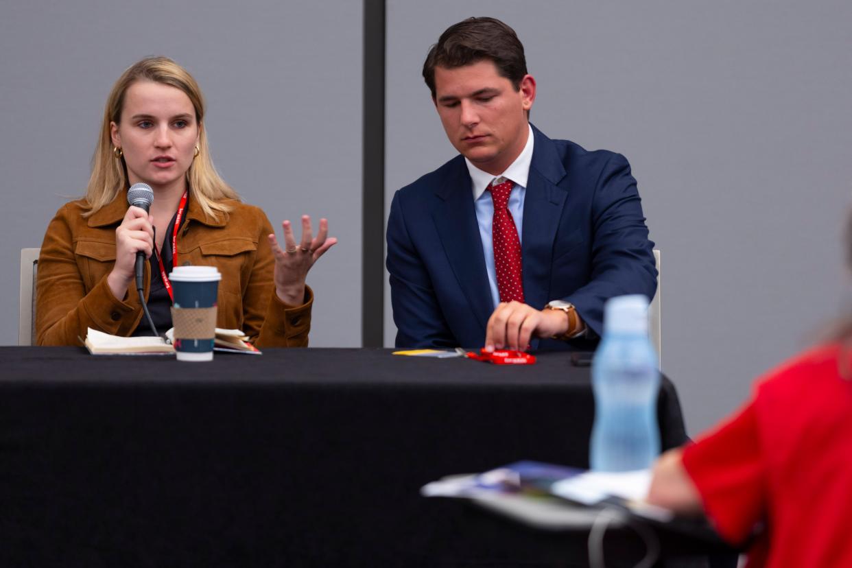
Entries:
[[[535, 144], [521, 234], [524, 299], [573, 303], [602, 333], [603, 303], [657, 287], [653, 243], [624, 156]], [[394, 195], [388, 260], [397, 347], [482, 347], [493, 312], [470, 175], [457, 156]], [[538, 348], [564, 348], [541, 341]]]

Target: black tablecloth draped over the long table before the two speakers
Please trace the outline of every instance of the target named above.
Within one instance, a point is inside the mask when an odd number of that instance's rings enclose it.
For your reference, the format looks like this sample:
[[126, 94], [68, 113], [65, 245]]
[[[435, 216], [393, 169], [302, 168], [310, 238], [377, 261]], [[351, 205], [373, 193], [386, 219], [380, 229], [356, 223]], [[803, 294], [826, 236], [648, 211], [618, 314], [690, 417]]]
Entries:
[[[418, 494], [519, 459], [587, 467], [589, 370], [567, 353], [500, 367], [365, 349], [180, 363], [0, 347], [0, 365], [0, 565], [586, 561], [583, 539]], [[665, 447], [686, 439], [667, 380], [659, 422]]]

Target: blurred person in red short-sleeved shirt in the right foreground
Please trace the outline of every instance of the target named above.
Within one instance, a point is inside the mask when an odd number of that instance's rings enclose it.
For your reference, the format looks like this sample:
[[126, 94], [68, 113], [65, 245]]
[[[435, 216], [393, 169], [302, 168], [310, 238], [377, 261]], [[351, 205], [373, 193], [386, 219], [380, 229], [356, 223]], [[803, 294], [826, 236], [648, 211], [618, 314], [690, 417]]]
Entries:
[[[852, 261], [852, 216], [847, 230]], [[852, 264], [852, 262], [850, 262]], [[852, 317], [653, 468], [648, 502], [704, 512], [751, 566], [852, 566]]]

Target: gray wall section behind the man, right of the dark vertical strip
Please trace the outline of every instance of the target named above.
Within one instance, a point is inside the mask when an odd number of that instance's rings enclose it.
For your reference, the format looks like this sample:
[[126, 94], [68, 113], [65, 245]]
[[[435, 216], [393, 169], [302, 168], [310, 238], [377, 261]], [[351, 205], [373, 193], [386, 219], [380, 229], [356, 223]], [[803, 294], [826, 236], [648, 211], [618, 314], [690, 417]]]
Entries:
[[852, 3], [388, 4], [386, 207], [454, 155], [420, 76], [429, 46], [471, 15], [506, 21], [538, 81], [533, 123], [630, 159], [663, 251], [663, 369], [690, 432], [845, 306]]

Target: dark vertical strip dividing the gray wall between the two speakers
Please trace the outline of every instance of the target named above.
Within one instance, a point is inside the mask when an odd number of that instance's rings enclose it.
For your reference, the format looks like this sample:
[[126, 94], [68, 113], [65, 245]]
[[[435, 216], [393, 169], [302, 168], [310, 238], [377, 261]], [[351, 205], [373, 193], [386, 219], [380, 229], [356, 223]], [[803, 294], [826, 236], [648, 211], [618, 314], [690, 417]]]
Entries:
[[364, 0], [361, 344], [382, 347], [384, 321], [385, 0]]

